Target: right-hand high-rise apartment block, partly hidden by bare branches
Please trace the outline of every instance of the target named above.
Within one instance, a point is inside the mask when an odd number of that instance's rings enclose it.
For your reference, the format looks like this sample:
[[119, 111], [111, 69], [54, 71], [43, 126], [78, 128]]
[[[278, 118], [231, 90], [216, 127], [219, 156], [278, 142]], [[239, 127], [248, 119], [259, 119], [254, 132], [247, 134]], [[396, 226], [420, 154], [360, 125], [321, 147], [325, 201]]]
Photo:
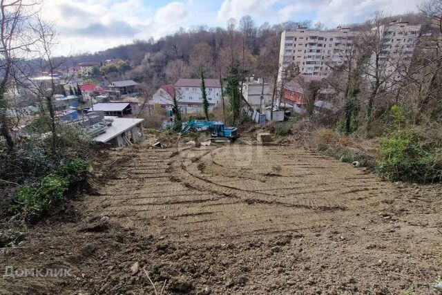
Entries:
[[388, 79], [387, 84], [391, 84], [407, 73], [419, 39], [421, 25], [410, 25], [406, 21], [392, 21], [381, 30], [383, 31], [383, 48], [379, 60], [383, 75]]

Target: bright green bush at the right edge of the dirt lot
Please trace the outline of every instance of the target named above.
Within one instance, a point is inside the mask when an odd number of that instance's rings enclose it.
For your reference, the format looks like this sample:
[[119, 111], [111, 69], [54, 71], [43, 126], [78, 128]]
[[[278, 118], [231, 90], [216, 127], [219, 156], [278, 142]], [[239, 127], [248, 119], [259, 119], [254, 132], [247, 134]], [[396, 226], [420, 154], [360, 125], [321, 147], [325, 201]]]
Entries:
[[390, 131], [380, 140], [376, 171], [387, 180], [442, 180], [442, 149], [416, 129]]

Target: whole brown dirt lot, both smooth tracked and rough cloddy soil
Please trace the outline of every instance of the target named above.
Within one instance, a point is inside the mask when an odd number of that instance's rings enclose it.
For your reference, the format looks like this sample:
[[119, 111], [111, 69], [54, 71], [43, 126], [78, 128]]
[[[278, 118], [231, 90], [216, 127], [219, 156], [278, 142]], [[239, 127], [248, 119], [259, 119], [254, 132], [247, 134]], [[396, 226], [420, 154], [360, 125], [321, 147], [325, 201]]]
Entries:
[[70, 276], [0, 278], [0, 294], [155, 294], [149, 278], [158, 294], [436, 294], [440, 185], [382, 182], [296, 146], [122, 157], [97, 193], [1, 250], [1, 265]]

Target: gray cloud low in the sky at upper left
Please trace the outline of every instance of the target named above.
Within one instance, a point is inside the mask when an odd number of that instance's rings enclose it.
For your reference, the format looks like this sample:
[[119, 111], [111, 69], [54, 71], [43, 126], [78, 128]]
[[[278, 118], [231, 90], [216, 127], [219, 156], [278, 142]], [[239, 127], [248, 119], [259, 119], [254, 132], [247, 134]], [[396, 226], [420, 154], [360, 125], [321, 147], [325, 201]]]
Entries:
[[65, 28], [64, 32], [76, 37], [133, 37], [140, 32], [137, 28], [124, 21], [114, 21], [110, 24], [91, 23], [86, 28]]

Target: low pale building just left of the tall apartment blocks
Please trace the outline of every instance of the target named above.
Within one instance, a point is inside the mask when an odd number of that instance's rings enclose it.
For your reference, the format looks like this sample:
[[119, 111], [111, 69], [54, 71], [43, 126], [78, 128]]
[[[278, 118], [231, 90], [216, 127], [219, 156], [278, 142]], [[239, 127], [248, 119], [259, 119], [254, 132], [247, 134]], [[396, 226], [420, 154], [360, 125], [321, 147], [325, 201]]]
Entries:
[[256, 111], [261, 111], [261, 113], [263, 113], [266, 104], [271, 102], [271, 94], [270, 85], [263, 82], [261, 78], [256, 80], [254, 77], [250, 77], [242, 86], [242, 96], [244, 96], [244, 99], [252, 108]]

